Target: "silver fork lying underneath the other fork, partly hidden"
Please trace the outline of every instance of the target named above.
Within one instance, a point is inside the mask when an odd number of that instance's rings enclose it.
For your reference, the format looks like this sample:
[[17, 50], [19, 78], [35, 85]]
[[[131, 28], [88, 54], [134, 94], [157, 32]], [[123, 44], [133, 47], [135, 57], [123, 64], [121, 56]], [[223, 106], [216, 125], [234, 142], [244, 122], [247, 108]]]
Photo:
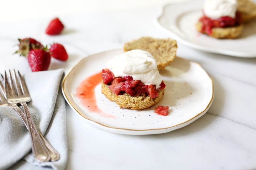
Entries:
[[[2, 74], [1, 74], [1, 78], [2, 78], [2, 80], [4, 80], [4, 77], [3, 77]], [[1, 92], [2, 92], [2, 94], [1, 94]], [[11, 103], [7, 102], [6, 96], [5, 96], [5, 93], [4, 93], [4, 86], [1, 83], [1, 80], [0, 80], [0, 106], [9, 106], [9, 107], [13, 108], [14, 110], [16, 110], [18, 115], [21, 117], [21, 120], [23, 121], [24, 125], [28, 129], [27, 121], [26, 121], [26, 116], [25, 116], [24, 112], [21, 110], [21, 108], [19, 108], [16, 104], [11, 104]], [[57, 152], [54, 149], [54, 147], [51, 146], [51, 144], [44, 138], [43, 135], [41, 135], [41, 133], [39, 131], [38, 131], [38, 133], [39, 133], [41, 139], [43, 140], [43, 142], [44, 142], [44, 144], [46, 146], [47, 151], [50, 154], [50, 157], [51, 157], [50, 161], [57, 161], [57, 160], [59, 160], [59, 158], [60, 158], [59, 152]]]

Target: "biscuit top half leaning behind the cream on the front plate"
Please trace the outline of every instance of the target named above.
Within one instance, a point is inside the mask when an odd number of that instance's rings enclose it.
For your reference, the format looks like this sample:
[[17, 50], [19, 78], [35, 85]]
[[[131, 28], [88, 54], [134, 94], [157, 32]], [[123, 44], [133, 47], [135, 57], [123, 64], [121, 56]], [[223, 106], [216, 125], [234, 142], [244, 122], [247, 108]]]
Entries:
[[176, 57], [177, 43], [169, 38], [142, 37], [124, 44], [124, 52], [135, 49], [151, 53], [157, 62], [157, 68], [164, 69]]

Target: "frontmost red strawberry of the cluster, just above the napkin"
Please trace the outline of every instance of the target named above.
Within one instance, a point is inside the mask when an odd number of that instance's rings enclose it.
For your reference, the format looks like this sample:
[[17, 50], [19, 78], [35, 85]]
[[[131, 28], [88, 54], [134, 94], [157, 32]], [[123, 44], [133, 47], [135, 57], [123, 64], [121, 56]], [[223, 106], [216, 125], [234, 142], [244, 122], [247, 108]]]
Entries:
[[50, 65], [51, 56], [49, 52], [44, 49], [30, 50], [28, 62], [32, 72], [44, 71], [47, 70]]

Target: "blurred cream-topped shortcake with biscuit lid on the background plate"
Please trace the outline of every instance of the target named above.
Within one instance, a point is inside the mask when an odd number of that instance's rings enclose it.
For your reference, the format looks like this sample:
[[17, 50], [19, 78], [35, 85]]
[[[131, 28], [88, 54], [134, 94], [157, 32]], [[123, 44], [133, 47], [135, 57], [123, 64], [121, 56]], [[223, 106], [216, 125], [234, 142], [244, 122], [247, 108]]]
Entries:
[[242, 34], [243, 23], [254, 18], [256, 4], [249, 0], [205, 0], [196, 29], [214, 38], [235, 39]]

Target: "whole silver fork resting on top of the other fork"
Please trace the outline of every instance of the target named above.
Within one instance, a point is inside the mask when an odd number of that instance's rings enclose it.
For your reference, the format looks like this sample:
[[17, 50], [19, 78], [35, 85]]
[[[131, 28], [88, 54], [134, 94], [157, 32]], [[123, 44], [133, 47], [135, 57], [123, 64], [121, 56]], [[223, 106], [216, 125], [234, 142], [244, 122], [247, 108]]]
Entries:
[[[28, 131], [31, 137], [32, 142], [32, 151], [34, 153], [35, 159], [41, 162], [46, 162], [51, 159], [48, 150], [46, 149], [46, 145], [41, 139], [39, 132], [36, 130], [36, 126], [31, 118], [29, 109], [27, 107], [26, 102], [31, 100], [29, 92], [27, 90], [25, 81], [21, 74], [18, 72], [19, 80], [17, 79], [16, 72], [14, 70], [14, 81], [11, 76], [11, 71], [9, 70], [9, 80], [7, 78], [7, 74], [5, 72], [5, 94], [8, 103], [11, 104], [21, 104], [24, 112], [25, 112], [25, 120], [27, 122]], [[15, 84], [15, 86], [14, 86]]]

